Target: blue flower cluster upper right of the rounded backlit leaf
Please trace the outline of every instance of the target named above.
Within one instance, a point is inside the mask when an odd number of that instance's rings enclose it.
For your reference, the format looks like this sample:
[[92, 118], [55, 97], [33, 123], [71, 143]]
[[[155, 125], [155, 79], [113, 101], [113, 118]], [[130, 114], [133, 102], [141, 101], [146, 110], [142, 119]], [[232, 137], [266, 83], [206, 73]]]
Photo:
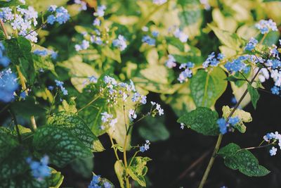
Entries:
[[230, 73], [235, 73], [238, 71], [243, 71], [244, 73], [249, 73], [250, 67], [247, 66], [244, 61], [248, 61], [249, 56], [239, 56], [238, 58], [233, 59], [233, 61], [228, 61], [224, 67]]

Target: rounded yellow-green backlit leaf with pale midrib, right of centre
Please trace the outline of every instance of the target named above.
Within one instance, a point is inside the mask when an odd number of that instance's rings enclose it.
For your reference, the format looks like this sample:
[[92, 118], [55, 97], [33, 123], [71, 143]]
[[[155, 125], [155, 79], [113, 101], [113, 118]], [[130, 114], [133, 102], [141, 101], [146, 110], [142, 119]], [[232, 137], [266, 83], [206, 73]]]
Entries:
[[211, 72], [199, 70], [190, 79], [190, 90], [196, 106], [211, 107], [226, 90], [226, 73], [221, 68]]

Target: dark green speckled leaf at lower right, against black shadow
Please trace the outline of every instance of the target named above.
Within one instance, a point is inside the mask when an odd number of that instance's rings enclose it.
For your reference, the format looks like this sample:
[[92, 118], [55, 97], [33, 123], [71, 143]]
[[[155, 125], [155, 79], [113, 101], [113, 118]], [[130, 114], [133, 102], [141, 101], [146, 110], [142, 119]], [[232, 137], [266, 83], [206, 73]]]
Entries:
[[247, 149], [240, 149], [240, 146], [230, 143], [218, 151], [223, 156], [224, 163], [228, 168], [239, 170], [247, 176], [264, 176], [270, 173], [269, 170], [259, 165], [258, 159]]

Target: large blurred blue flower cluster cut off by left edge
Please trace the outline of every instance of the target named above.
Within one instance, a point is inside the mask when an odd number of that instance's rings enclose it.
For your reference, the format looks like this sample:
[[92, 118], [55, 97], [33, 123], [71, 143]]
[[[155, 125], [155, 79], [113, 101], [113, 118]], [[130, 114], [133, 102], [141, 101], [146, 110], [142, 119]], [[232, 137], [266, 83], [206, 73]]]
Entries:
[[9, 102], [14, 98], [14, 92], [18, 89], [17, 77], [11, 68], [0, 72], [0, 101]]

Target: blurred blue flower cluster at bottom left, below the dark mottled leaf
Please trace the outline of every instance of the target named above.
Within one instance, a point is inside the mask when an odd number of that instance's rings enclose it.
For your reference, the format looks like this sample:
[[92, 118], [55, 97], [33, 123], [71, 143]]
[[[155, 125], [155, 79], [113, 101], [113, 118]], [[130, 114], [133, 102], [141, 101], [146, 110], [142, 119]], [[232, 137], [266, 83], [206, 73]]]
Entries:
[[51, 176], [51, 168], [48, 167], [48, 156], [44, 156], [40, 161], [32, 161], [32, 158], [26, 159], [32, 170], [32, 175], [37, 180], [44, 180], [45, 177]]

